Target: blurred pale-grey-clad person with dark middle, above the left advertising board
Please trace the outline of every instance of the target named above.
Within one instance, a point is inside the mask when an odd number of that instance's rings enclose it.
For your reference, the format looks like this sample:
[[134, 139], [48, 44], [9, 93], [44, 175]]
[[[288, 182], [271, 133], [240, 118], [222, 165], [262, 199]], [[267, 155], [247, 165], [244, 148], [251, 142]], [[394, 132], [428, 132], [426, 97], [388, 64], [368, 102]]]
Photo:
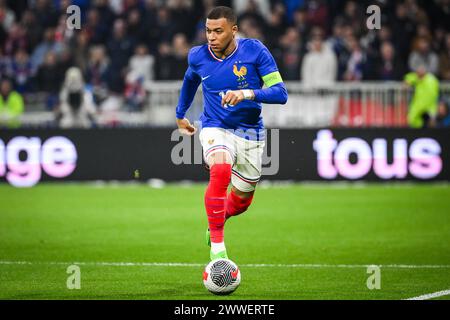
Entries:
[[61, 128], [90, 128], [96, 122], [94, 98], [79, 68], [67, 70], [59, 100]]

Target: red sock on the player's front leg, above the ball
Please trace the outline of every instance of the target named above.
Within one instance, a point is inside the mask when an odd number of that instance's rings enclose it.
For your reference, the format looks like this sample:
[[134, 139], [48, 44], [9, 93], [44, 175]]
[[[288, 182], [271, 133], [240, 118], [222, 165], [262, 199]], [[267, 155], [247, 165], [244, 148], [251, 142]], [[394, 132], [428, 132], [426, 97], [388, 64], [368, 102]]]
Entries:
[[231, 180], [231, 164], [214, 164], [209, 172], [209, 184], [205, 192], [205, 208], [208, 215], [211, 242], [223, 242], [225, 201]]

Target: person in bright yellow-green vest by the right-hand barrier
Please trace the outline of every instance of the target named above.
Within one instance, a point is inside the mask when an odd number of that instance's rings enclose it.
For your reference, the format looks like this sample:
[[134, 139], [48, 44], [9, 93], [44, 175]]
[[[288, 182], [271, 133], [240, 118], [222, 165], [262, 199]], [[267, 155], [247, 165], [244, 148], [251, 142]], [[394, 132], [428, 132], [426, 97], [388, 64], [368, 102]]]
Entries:
[[408, 112], [408, 124], [412, 128], [423, 128], [429, 125], [430, 119], [436, 116], [439, 97], [439, 81], [427, 72], [425, 65], [419, 65], [415, 72], [404, 77], [405, 84], [414, 88]]

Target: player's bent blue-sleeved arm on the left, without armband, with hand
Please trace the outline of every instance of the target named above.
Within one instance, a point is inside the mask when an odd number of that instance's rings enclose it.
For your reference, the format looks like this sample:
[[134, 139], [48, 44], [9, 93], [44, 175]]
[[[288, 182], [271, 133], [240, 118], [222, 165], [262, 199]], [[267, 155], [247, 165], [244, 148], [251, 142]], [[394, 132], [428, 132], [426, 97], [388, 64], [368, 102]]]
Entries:
[[189, 52], [189, 67], [184, 74], [183, 85], [181, 86], [180, 98], [176, 109], [176, 122], [181, 133], [193, 135], [197, 129], [185, 118], [186, 112], [194, 100], [197, 88], [202, 82], [201, 77], [194, 71], [192, 66], [192, 51]]

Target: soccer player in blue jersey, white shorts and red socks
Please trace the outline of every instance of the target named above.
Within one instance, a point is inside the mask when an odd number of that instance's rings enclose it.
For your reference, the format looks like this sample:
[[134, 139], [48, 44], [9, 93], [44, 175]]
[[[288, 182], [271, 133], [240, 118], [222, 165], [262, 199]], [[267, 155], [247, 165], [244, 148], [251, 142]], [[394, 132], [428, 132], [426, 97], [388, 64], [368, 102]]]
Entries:
[[225, 221], [247, 210], [261, 177], [265, 144], [261, 103], [287, 101], [286, 87], [269, 50], [258, 40], [238, 39], [237, 32], [231, 8], [212, 9], [206, 20], [208, 43], [189, 52], [176, 108], [180, 132], [195, 134], [197, 128], [185, 114], [202, 84], [200, 142], [210, 174], [204, 200], [211, 260], [228, 258]]

